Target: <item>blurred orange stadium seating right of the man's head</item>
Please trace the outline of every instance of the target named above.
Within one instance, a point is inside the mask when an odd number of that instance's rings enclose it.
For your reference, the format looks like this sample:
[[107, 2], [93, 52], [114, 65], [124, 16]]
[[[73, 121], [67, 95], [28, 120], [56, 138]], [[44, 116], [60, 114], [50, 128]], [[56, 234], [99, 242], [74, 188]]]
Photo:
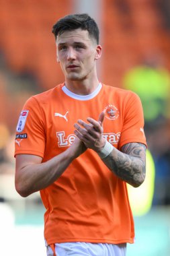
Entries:
[[149, 49], [163, 51], [166, 59], [169, 56], [170, 36], [161, 28], [155, 1], [126, 0], [126, 4], [129, 9], [129, 17], [126, 18], [132, 23], [127, 29], [116, 3], [103, 1], [102, 79], [107, 83], [118, 80], [120, 86], [124, 71], [138, 64], [140, 57]]

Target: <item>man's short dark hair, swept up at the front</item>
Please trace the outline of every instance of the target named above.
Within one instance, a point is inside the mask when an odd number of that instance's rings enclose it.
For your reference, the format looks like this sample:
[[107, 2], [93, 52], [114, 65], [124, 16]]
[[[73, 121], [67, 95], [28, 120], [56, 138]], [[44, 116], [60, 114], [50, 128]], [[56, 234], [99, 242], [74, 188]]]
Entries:
[[89, 36], [94, 38], [97, 44], [99, 44], [99, 28], [95, 20], [93, 20], [93, 18], [91, 18], [87, 13], [76, 13], [61, 18], [52, 27], [52, 33], [56, 39], [57, 36], [63, 32], [76, 30], [77, 28], [87, 30], [89, 32]]

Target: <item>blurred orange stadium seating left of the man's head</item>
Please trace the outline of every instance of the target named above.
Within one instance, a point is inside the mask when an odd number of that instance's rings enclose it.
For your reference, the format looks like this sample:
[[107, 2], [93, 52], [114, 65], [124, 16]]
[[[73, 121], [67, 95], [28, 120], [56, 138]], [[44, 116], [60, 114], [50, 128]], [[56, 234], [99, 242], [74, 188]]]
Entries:
[[60, 67], [56, 65], [51, 30], [54, 22], [70, 11], [71, 3], [67, 0], [1, 0], [0, 46], [9, 67], [16, 72], [34, 73], [43, 86], [59, 81]]

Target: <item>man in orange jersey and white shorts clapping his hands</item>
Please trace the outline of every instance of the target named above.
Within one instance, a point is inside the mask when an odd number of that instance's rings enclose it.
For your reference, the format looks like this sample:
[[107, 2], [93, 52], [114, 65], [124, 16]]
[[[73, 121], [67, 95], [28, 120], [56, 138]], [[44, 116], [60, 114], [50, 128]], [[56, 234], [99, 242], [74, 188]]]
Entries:
[[99, 30], [89, 15], [67, 15], [52, 32], [65, 83], [22, 110], [15, 187], [23, 197], [40, 191], [47, 255], [123, 256], [134, 242], [126, 183], [145, 177], [141, 103], [99, 83]]

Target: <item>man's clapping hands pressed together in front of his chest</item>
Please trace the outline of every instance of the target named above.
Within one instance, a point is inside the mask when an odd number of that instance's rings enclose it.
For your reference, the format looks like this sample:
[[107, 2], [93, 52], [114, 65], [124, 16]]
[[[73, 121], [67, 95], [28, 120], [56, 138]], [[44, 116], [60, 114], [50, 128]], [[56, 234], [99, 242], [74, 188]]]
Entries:
[[104, 116], [105, 113], [101, 112], [98, 121], [88, 117], [89, 123], [79, 119], [74, 125], [75, 135], [84, 143], [86, 148], [91, 148], [95, 152], [99, 152], [105, 146], [105, 139], [102, 136]]

